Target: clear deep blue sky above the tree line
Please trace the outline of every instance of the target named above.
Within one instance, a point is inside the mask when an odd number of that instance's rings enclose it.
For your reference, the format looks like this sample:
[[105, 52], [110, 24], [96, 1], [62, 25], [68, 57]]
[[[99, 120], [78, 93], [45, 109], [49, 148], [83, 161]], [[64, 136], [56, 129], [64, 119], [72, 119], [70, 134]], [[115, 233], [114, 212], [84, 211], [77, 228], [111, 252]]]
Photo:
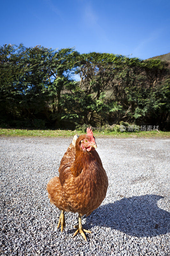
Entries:
[[141, 59], [170, 52], [169, 0], [2, 0], [0, 21], [0, 45], [75, 47]]

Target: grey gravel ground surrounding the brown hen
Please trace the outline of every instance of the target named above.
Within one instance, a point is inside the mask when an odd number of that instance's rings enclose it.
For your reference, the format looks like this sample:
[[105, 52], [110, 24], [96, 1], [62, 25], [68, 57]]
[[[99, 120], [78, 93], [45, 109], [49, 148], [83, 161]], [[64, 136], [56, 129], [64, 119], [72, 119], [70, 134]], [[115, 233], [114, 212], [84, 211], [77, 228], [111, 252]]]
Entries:
[[0, 138], [0, 255], [170, 255], [168, 139], [96, 139], [109, 187], [83, 218], [88, 242], [75, 231], [78, 214], [50, 205], [47, 182], [58, 175], [71, 138]]

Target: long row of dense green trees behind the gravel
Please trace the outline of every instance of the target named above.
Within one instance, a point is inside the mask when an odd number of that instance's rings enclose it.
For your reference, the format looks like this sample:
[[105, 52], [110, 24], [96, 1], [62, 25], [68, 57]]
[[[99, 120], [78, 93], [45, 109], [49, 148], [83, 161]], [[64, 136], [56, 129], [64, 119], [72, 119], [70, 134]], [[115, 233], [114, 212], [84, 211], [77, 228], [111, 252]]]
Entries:
[[[0, 46], [1, 126], [159, 125], [169, 129], [170, 64], [73, 48]], [[75, 81], [75, 75], [80, 81]]]

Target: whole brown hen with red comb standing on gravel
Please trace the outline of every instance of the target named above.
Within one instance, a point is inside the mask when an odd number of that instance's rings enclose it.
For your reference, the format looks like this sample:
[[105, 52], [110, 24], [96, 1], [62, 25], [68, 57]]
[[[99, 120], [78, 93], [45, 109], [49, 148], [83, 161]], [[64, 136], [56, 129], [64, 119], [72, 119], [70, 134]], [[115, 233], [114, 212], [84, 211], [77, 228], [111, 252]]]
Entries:
[[90, 215], [104, 200], [108, 187], [106, 172], [98, 155], [91, 127], [87, 134], [74, 136], [65, 152], [59, 167], [59, 177], [52, 178], [47, 184], [50, 202], [62, 212], [58, 226], [65, 227], [64, 212], [78, 212], [78, 232], [87, 241], [82, 227], [81, 216]]

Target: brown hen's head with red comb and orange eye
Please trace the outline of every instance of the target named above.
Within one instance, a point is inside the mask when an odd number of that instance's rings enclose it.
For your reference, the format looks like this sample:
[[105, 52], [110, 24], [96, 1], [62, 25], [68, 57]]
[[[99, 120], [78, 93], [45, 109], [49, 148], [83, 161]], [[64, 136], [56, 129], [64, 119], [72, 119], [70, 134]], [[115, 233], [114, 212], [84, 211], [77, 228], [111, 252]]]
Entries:
[[80, 135], [76, 140], [76, 147], [84, 152], [93, 151], [97, 148], [93, 132], [90, 128], [87, 128], [87, 134]]

